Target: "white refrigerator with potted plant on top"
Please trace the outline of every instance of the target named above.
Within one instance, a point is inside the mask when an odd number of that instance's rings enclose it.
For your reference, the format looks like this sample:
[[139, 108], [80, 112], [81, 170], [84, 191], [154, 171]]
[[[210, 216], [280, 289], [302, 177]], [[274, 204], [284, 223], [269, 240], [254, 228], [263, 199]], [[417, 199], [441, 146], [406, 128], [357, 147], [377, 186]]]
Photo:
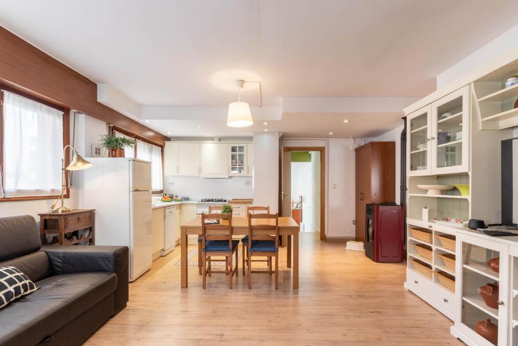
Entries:
[[95, 245], [130, 248], [130, 281], [151, 268], [151, 162], [86, 158], [80, 205], [95, 209]]

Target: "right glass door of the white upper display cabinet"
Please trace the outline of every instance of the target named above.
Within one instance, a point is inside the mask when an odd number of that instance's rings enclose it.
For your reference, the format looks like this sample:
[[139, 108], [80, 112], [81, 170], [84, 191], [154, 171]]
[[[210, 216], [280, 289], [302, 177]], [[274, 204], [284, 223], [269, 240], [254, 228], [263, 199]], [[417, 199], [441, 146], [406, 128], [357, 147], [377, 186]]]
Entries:
[[468, 171], [469, 86], [431, 104], [431, 174]]

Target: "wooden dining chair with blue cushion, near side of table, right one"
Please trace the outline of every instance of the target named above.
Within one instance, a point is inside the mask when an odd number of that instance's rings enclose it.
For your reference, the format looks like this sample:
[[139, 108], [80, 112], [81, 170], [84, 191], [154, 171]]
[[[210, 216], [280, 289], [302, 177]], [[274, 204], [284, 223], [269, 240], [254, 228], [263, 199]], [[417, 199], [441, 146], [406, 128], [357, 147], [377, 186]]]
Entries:
[[[252, 220], [258, 220], [258, 222]], [[275, 220], [275, 222], [272, 220]], [[277, 289], [279, 286], [279, 213], [249, 213], [248, 239], [248, 288], [252, 288], [252, 273], [269, 273], [271, 275], [271, 266], [269, 271], [252, 270], [252, 257], [266, 256], [268, 258], [275, 257], [275, 289]]]

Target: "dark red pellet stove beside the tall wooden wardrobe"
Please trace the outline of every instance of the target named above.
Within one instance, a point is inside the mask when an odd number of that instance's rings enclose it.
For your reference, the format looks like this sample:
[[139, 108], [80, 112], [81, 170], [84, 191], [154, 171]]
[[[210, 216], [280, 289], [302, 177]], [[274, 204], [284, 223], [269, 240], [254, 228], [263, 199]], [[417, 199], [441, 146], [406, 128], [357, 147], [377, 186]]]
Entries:
[[405, 237], [403, 229], [402, 205], [367, 204], [365, 255], [375, 262], [402, 262]]

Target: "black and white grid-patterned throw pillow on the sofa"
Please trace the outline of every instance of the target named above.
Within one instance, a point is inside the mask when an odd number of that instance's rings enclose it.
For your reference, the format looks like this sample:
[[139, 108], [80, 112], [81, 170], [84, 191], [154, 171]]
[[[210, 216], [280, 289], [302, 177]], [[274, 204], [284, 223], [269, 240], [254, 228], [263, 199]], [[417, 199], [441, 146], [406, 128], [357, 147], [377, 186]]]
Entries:
[[38, 287], [15, 267], [0, 268], [0, 309], [9, 302], [34, 292]]

